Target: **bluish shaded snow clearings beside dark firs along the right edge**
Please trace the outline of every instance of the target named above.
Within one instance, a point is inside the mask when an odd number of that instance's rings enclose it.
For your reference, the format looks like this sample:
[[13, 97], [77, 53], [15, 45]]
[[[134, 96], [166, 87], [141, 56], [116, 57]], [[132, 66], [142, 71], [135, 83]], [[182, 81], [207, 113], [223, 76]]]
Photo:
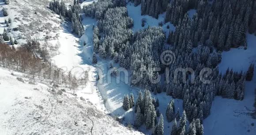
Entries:
[[[256, 36], [247, 34], [247, 42], [247, 50], [240, 47], [222, 53], [220, 72], [225, 73], [228, 67], [233, 68], [233, 71], [246, 72], [251, 63], [256, 63]], [[255, 88], [256, 74], [251, 82], [245, 84], [244, 100], [215, 97], [211, 106], [211, 115], [203, 121], [205, 135], [255, 135], [256, 127], [252, 124], [256, 124], [256, 120], [250, 116], [250, 112], [255, 110], [253, 107]]]

